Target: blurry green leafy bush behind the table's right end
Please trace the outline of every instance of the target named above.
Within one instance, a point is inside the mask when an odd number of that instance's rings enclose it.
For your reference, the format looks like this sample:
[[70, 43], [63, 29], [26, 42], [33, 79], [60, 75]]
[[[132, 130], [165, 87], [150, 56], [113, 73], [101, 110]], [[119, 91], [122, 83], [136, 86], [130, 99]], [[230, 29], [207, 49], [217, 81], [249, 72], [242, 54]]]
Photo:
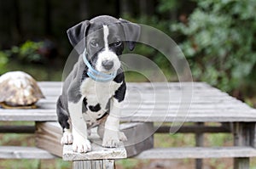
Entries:
[[[249, 85], [254, 78], [256, 18], [253, 0], [196, 0], [187, 23], [172, 25], [185, 36], [180, 47], [196, 81], [224, 91]], [[255, 71], [254, 71], [255, 72]]]

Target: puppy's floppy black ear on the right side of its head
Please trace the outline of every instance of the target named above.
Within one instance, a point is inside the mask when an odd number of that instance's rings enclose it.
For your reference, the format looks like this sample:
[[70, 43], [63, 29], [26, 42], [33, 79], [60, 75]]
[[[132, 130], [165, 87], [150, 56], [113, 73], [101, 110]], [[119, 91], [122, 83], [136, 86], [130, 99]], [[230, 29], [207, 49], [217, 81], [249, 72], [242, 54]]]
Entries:
[[125, 40], [127, 42], [128, 48], [133, 50], [135, 48], [136, 42], [140, 37], [141, 26], [121, 18], [119, 18], [119, 20], [121, 21], [121, 25], [125, 31]]

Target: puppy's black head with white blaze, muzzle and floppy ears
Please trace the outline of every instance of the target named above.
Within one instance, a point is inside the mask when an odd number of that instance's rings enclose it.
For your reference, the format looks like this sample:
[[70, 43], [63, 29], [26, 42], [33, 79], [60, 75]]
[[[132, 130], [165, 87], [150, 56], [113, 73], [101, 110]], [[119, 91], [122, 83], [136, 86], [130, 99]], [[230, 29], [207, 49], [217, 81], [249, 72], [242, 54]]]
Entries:
[[125, 45], [130, 50], [135, 48], [139, 33], [139, 25], [107, 15], [84, 20], [67, 30], [69, 41], [78, 53], [86, 51], [90, 65], [104, 73], [119, 69], [119, 55]]

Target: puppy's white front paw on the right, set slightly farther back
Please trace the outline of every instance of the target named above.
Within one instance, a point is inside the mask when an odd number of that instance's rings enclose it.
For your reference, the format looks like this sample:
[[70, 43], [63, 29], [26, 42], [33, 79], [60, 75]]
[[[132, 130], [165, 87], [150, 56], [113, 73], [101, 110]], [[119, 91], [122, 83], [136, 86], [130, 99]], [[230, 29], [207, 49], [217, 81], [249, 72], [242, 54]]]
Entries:
[[102, 142], [103, 147], [108, 147], [108, 148], [118, 147], [119, 143], [120, 143], [119, 132], [114, 132], [108, 129], [104, 132], [103, 142]]

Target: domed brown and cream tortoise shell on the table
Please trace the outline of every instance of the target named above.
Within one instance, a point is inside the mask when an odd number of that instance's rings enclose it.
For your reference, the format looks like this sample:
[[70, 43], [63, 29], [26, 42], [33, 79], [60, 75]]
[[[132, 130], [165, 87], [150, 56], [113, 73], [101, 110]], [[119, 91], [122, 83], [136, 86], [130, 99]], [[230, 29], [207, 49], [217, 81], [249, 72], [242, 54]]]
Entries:
[[9, 71], [0, 76], [0, 106], [5, 109], [36, 108], [44, 94], [32, 76], [23, 71]]

